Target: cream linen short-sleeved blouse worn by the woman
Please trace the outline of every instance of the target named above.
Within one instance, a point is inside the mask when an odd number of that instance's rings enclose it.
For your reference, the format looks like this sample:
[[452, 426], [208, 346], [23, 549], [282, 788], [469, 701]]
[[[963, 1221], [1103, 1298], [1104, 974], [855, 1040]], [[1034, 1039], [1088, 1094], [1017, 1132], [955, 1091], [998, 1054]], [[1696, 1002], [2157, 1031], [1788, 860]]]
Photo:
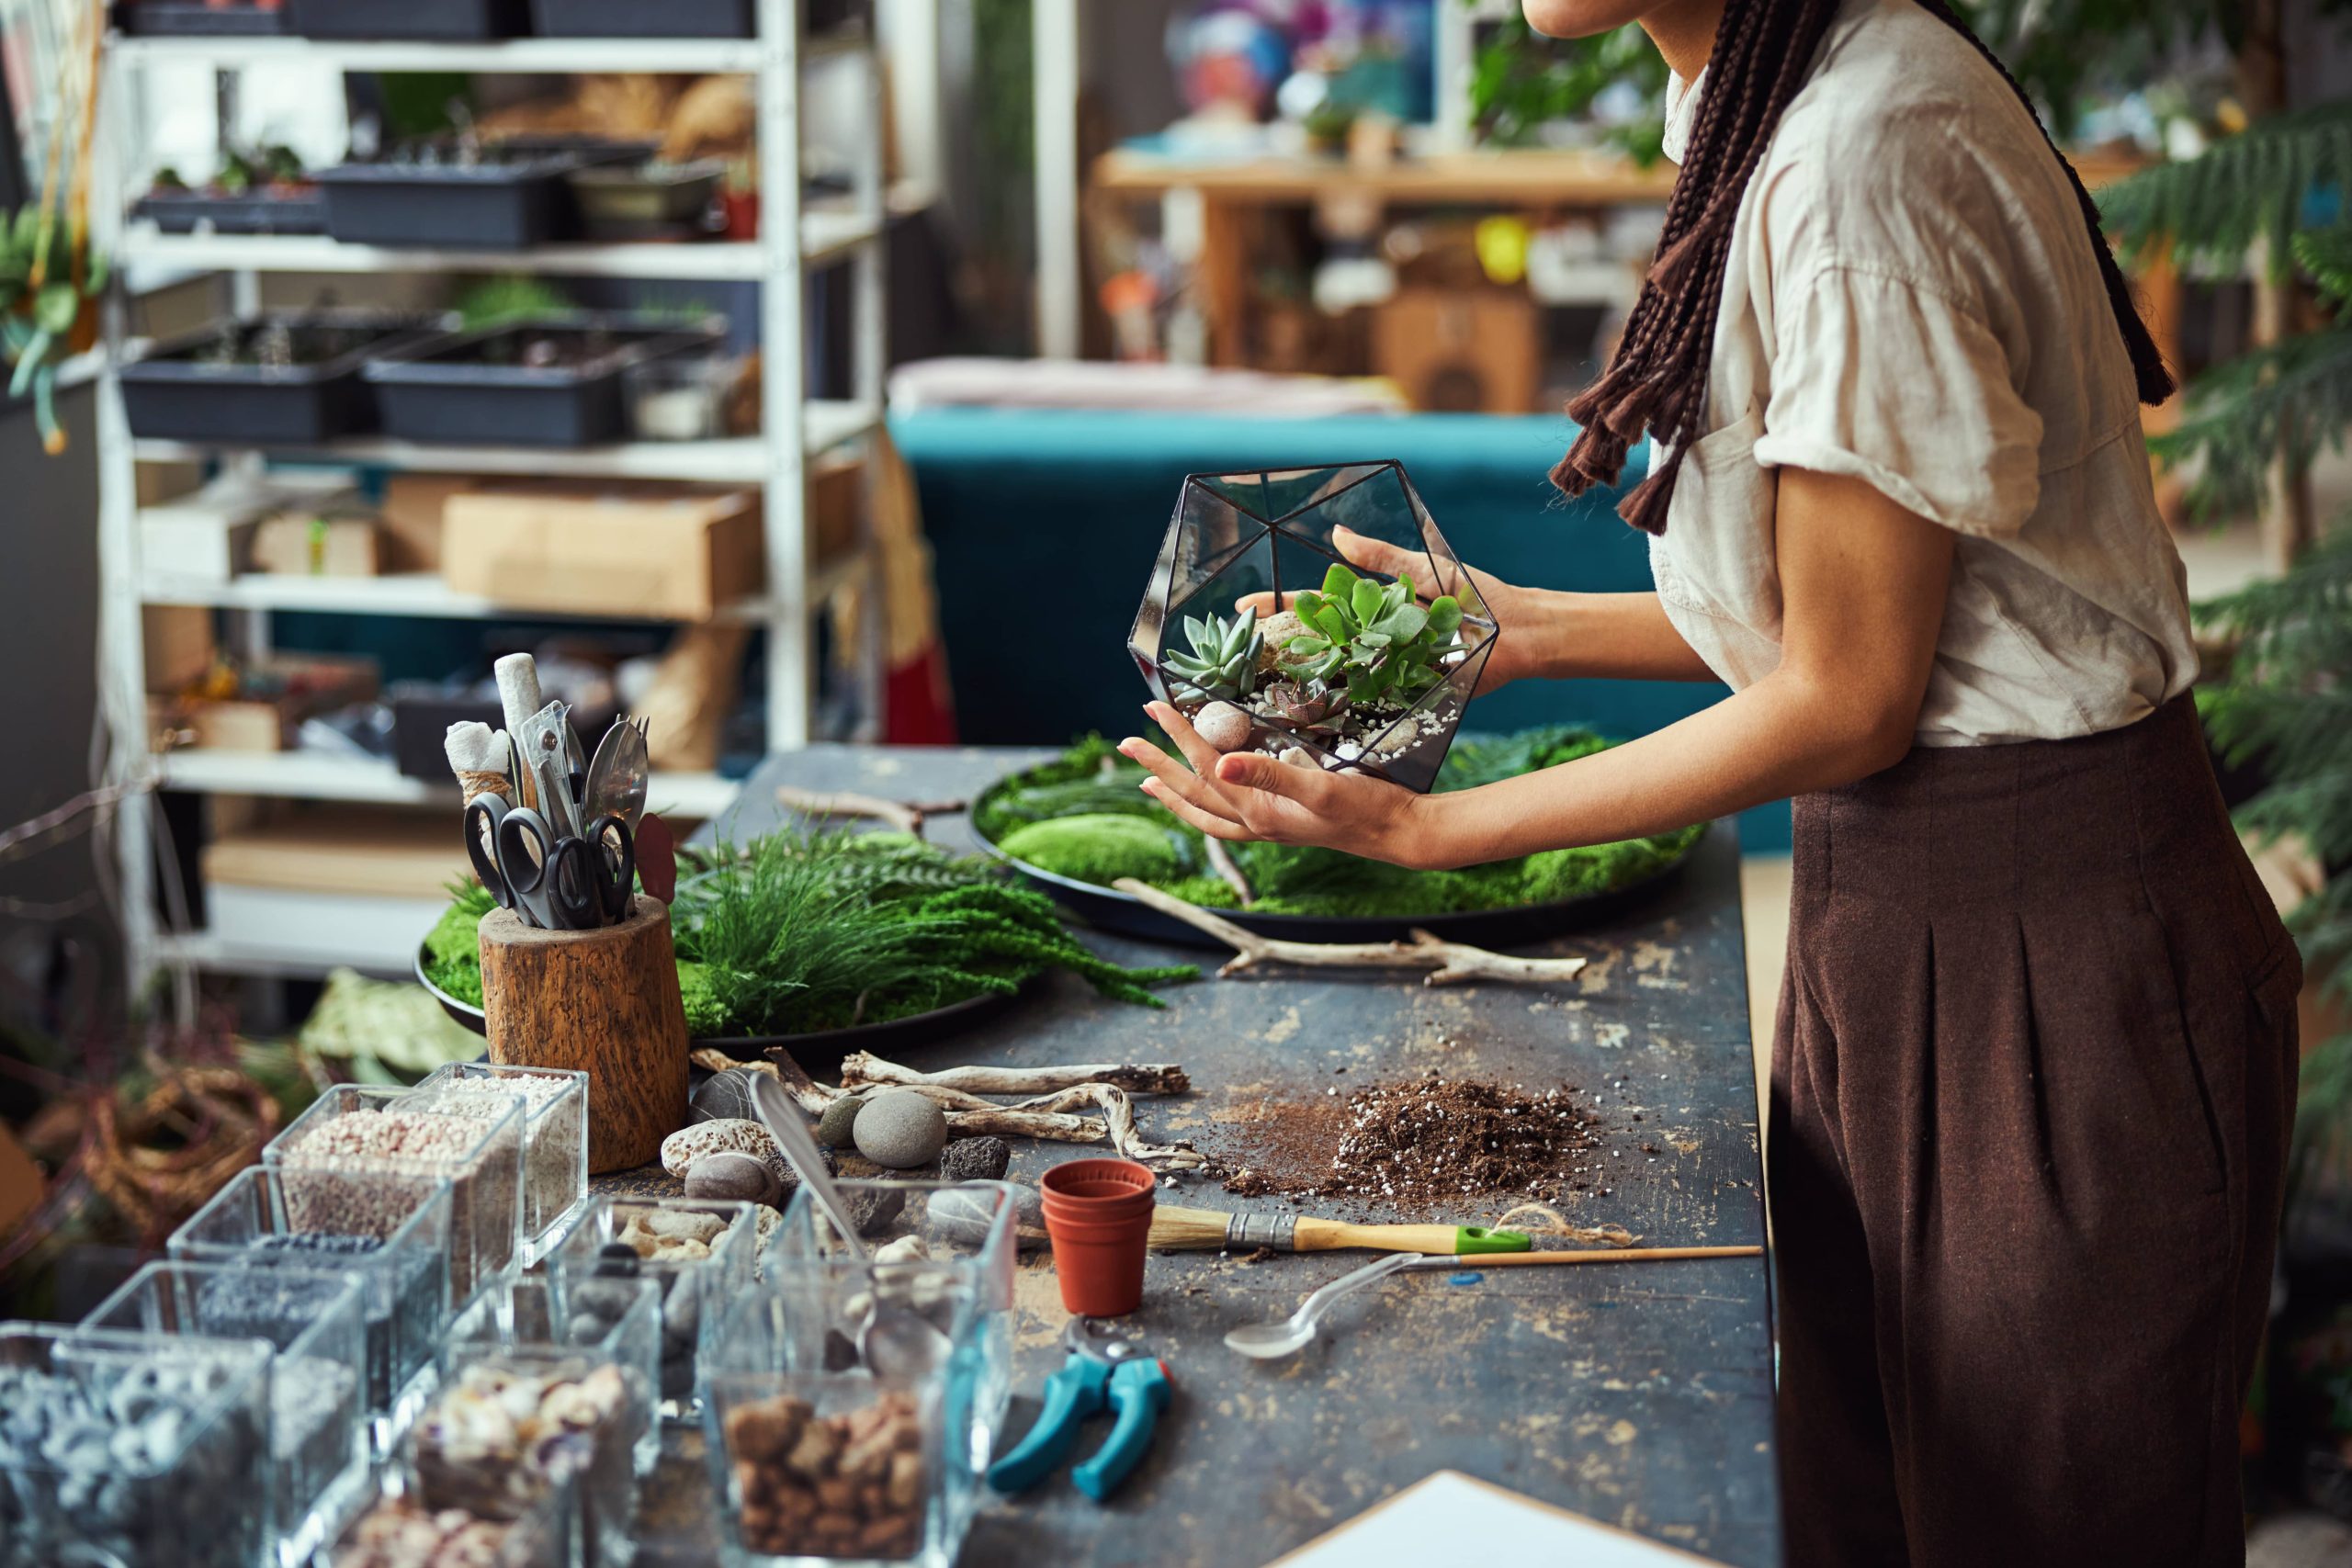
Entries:
[[[1677, 162], [1703, 92], [1668, 92]], [[1733, 689], [1780, 663], [1778, 468], [1959, 536], [1922, 745], [2119, 729], [2197, 677], [2082, 209], [2009, 85], [1915, 0], [1846, 0], [1773, 132], [1651, 541], [1668, 618]]]

